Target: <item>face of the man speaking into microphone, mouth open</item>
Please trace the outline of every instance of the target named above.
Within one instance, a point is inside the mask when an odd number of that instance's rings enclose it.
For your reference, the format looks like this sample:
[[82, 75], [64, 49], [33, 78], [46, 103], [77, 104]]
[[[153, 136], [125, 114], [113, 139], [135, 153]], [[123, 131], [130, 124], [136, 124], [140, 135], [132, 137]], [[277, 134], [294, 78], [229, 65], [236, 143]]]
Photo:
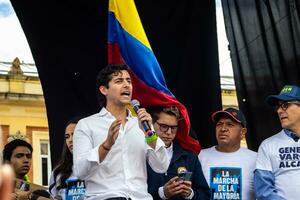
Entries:
[[107, 105], [128, 105], [132, 97], [132, 83], [129, 73], [126, 70], [114, 74], [108, 83], [108, 88], [100, 86], [100, 92], [106, 96]]

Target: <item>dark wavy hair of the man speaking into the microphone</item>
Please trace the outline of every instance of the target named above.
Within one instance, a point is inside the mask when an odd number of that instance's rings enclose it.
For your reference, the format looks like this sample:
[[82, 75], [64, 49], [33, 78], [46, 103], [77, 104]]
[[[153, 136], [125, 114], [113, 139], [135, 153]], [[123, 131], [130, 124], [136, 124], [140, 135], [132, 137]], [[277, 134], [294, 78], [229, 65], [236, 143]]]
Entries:
[[100, 70], [96, 80], [96, 94], [101, 107], [106, 106], [106, 98], [99, 92], [99, 87], [105, 86], [108, 88], [108, 83], [112, 80], [113, 75], [117, 75], [123, 70], [128, 71], [128, 69], [126, 64], [110, 64]]

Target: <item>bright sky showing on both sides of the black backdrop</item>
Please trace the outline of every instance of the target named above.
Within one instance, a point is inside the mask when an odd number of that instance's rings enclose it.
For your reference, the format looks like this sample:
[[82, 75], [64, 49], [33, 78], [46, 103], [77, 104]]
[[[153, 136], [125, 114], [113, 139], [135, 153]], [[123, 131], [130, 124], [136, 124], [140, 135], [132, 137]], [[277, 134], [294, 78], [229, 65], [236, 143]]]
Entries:
[[[221, 0], [216, 0], [216, 12], [220, 74], [232, 77]], [[0, 62], [12, 62], [15, 57], [18, 57], [21, 62], [34, 63], [26, 37], [10, 1], [0, 0]]]

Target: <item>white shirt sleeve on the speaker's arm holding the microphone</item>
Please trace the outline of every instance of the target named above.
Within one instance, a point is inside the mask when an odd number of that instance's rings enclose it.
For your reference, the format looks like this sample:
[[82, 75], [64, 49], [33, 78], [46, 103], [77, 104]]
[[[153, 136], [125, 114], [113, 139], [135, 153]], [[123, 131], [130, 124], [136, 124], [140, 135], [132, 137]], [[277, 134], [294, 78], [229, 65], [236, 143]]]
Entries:
[[165, 173], [170, 164], [164, 142], [158, 137], [155, 149], [147, 145], [147, 161], [156, 173]]

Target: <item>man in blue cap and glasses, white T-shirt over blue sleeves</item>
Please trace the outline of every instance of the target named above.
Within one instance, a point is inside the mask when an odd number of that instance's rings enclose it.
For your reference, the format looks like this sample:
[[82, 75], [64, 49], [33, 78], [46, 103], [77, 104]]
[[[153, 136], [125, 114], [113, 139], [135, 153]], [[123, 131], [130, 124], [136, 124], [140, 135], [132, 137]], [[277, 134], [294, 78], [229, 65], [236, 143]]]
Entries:
[[259, 147], [254, 173], [257, 199], [299, 199], [300, 88], [286, 85], [267, 103], [275, 108], [282, 130]]

